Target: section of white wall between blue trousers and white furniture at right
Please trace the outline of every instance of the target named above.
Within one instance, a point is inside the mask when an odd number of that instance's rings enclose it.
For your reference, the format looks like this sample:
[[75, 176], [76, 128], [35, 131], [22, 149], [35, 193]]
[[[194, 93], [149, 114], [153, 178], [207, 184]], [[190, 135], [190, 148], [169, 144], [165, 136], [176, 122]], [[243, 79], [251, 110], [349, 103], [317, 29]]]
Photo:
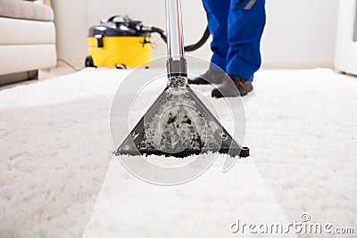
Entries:
[[267, 0], [266, 8], [264, 66], [333, 66], [338, 0]]

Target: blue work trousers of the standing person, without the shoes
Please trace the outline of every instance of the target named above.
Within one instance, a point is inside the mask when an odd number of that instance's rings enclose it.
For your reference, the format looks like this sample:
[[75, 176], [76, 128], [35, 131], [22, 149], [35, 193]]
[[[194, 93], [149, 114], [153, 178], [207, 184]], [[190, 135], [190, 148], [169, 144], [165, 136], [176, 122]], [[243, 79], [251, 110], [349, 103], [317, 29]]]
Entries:
[[203, 0], [212, 34], [210, 69], [253, 81], [259, 70], [265, 0]]

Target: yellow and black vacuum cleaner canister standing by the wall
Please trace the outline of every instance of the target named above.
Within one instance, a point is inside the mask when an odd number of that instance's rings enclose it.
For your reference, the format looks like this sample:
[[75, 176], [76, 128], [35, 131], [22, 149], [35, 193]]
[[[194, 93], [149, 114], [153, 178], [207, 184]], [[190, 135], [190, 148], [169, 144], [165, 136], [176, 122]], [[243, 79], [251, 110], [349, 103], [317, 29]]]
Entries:
[[[117, 21], [117, 20], [121, 21]], [[141, 21], [131, 21], [127, 15], [113, 15], [101, 25], [89, 29], [87, 67], [114, 66], [149, 67], [151, 30]]]

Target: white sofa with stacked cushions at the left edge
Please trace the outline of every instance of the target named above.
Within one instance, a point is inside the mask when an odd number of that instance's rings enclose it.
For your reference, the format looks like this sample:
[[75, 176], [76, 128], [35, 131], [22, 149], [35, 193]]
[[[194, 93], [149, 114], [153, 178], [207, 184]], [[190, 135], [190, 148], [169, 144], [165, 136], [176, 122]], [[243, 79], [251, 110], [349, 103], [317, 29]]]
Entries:
[[54, 12], [42, 1], [0, 0], [0, 85], [56, 65]]

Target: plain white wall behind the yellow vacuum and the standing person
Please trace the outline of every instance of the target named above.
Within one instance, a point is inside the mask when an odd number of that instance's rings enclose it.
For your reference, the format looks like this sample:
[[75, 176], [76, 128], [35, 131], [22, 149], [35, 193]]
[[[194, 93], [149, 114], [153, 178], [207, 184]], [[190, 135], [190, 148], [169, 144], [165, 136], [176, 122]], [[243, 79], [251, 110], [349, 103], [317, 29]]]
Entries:
[[[206, 26], [201, 0], [181, 0], [186, 45], [198, 40]], [[165, 28], [164, 0], [54, 0], [59, 55], [83, 62], [87, 29], [114, 13], [126, 13], [145, 25]], [[265, 67], [305, 68], [334, 62], [338, 0], [267, 0], [267, 25], [262, 38]], [[74, 4], [76, 3], [76, 4]], [[67, 9], [64, 11], [64, 9]], [[65, 19], [64, 19], [65, 18]], [[85, 24], [87, 23], [87, 24]], [[63, 26], [65, 25], [65, 26]], [[78, 32], [73, 32], [77, 29]], [[72, 37], [72, 38], [70, 38]], [[73, 37], [77, 39], [73, 40]], [[154, 36], [152, 57], [166, 54]], [[80, 45], [79, 45], [80, 44]], [[83, 50], [84, 49], [84, 50]], [[209, 43], [192, 54], [209, 60]]]

